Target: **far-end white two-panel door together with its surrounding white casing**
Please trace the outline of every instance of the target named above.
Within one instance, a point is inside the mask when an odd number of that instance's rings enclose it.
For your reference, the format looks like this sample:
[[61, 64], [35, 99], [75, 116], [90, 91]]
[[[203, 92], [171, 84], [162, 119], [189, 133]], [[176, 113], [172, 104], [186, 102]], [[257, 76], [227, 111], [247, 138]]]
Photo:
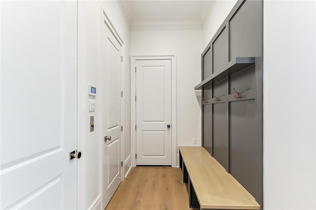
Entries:
[[131, 57], [131, 64], [134, 71], [131, 90], [133, 166], [175, 167], [175, 56]]

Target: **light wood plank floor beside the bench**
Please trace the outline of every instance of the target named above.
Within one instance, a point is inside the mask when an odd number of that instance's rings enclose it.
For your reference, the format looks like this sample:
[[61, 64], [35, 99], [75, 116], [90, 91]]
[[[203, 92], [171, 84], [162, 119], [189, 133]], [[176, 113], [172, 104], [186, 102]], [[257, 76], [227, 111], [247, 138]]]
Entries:
[[106, 210], [197, 210], [189, 208], [182, 172], [171, 167], [133, 167]]

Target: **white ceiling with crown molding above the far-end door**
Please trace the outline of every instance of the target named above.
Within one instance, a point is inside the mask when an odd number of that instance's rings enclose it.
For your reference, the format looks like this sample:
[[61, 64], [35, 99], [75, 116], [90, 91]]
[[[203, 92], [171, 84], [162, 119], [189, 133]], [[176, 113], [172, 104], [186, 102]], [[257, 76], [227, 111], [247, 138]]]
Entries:
[[131, 31], [202, 29], [215, 0], [118, 0]]

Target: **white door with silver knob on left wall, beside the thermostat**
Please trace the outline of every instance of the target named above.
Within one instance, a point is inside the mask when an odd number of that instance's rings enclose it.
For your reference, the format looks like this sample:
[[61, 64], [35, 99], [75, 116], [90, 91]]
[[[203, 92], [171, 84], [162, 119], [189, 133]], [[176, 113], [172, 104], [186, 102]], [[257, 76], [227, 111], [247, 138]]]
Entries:
[[100, 33], [100, 126], [101, 145], [103, 145], [102, 209], [104, 209], [121, 182], [122, 47], [104, 21], [101, 21]]

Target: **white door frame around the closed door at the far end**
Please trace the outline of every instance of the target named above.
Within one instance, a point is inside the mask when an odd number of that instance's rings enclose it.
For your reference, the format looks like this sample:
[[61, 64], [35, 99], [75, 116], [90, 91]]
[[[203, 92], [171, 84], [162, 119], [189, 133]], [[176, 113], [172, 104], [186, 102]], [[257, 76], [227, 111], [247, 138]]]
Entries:
[[136, 166], [136, 61], [171, 60], [171, 166], [177, 165], [177, 63], [176, 55], [131, 56], [131, 154], [132, 166]]

